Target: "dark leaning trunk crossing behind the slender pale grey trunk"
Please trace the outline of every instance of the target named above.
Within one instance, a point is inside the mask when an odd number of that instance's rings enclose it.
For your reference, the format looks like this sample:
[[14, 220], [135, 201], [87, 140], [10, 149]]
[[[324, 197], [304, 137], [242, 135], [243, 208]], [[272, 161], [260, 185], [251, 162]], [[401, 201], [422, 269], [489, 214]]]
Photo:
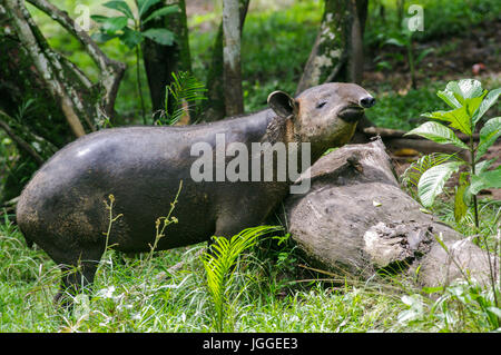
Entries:
[[[240, 36], [247, 14], [249, 0], [239, 0]], [[207, 73], [208, 100], [204, 110], [203, 120], [216, 121], [227, 116], [224, 89], [223, 70], [223, 23], [219, 26], [213, 49], [213, 60]]]

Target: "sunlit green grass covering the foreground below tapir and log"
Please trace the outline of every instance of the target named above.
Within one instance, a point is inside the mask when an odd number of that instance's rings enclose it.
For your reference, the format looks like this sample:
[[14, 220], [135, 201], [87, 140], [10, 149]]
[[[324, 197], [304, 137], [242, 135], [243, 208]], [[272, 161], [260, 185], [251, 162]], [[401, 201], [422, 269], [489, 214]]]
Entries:
[[[498, 209], [497, 215], [500, 211]], [[0, 224], [0, 332], [215, 332], [215, 305], [196, 245], [126, 257], [107, 252], [92, 290], [71, 310], [52, 297], [59, 270], [28, 249], [14, 226]], [[174, 274], [168, 268], [184, 260]], [[227, 289], [224, 332], [489, 332], [492, 326], [456, 284], [439, 299], [394, 276], [332, 284], [304, 274], [292, 244], [261, 243], [245, 253]], [[489, 298], [488, 290], [477, 290]], [[464, 297], [462, 297], [463, 295]]]

